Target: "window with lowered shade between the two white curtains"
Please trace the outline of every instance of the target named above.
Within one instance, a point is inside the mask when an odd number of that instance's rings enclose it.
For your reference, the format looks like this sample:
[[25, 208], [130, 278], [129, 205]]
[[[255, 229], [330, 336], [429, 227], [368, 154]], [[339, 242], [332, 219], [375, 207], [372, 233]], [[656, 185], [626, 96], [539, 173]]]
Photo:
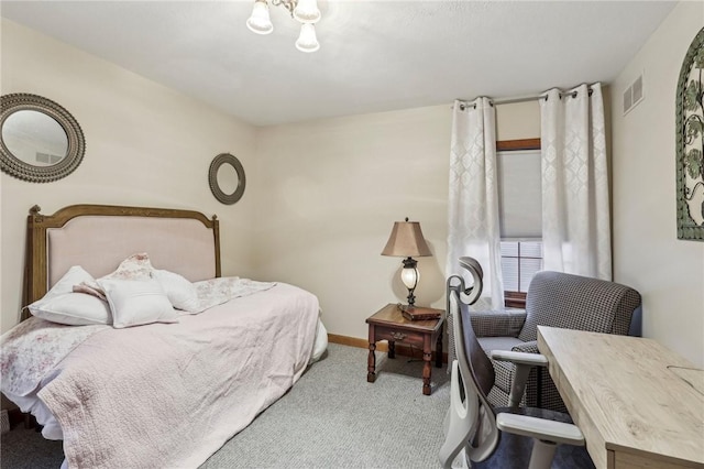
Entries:
[[540, 139], [499, 141], [496, 150], [504, 299], [522, 308], [542, 270]]

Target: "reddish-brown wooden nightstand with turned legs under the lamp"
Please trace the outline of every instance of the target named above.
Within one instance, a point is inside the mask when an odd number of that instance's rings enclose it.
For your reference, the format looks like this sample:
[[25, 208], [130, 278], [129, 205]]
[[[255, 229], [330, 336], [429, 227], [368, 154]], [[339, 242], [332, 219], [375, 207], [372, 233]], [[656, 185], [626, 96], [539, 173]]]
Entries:
[[396, 342], [405, 342], [422, 348], [422, 393], [430, 395], [430, 372], [432, 367], [432, 342], [436, 342], [436, 367], [442, 367], [442, 326], [444, 310], [440, 319], [409, 320], [406, 319], [398, 305], [389, 303], [366, 319], [370, 325], [370, 357], [367, 362], [366, 381], [376, 380], [376, 342], [388, 340], [388, 358], [396, 358]]

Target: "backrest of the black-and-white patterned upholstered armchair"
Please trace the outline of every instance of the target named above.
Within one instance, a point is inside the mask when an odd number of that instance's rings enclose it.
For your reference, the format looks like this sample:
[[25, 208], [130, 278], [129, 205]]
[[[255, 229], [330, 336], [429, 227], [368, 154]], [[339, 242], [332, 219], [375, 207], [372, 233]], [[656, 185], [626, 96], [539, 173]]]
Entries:
[[562, 272], [538, 272], [526, 295], [522, 341], [538, 339], [538, 326], [627, 335], [640, 294], [605, 280]]

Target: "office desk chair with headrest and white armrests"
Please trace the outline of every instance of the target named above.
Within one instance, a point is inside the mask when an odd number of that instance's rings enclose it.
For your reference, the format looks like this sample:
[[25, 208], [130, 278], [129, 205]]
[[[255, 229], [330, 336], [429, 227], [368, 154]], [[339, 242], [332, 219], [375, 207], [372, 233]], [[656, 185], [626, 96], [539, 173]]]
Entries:
[[[473, 261], [473, 260], [472, 260]], [[450, 408], [444, 419], [446, 440], [440, 448], [440, 462], [450, 468], [464, 449], [471, 467], [508, 469], [593, 468], [584, 448], [584, 436], [571, 423], [569, 415], [553, 411], [518, 407], [528, 371], [547, 364], [543, 356], [503, 351], [495, 360], [510, 360], [517, 367], [517, 379], [510, 392], [510, 407], [495, 408], [486, 395], [494, 386], [494, 368], [481, 348], [468, 304], [476, 301], [482, 290], [481, 268], [476, 261], [461, 261], [473, 277], [472, 288], [465, 288], [460, 276], [448, 279], [448, 314], [453, 318], [450, 331], [454, 336], [457, 360], [452, 362]], [[477, 293], [479, 292], [479, 293]], [[558, 446], [559, 445], [559, 446]]]

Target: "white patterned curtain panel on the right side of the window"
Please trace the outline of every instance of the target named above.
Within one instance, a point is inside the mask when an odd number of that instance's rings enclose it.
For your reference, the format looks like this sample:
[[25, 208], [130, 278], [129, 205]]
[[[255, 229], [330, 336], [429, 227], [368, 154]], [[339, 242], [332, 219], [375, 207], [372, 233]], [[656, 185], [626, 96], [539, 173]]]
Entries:
[[540, 100], [543, 266], [612, 280], [604, 101], [591, 90]]

